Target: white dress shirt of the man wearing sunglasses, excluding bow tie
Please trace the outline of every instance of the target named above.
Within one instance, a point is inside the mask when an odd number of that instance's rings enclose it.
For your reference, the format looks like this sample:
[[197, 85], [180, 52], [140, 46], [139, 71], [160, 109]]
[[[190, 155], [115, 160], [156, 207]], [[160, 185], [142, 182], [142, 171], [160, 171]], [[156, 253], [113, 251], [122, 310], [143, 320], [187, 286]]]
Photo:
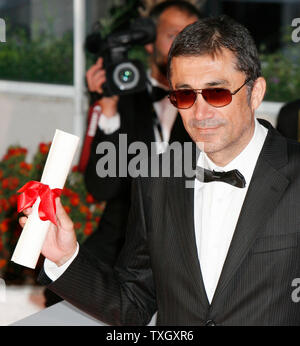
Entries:
[[212, 301], [227, 256], [231, 239], [263, 147], [268, 130], [255, 119], [255, 130], [246, 148], [225, 167], [216, 166], [201, 153], [197, 166], [215, 171], [238, 169], [246, 180], [245, 188], [224, 182], [202, 183], [195, 180], [194, 225], [196, 245], [204, 286]]

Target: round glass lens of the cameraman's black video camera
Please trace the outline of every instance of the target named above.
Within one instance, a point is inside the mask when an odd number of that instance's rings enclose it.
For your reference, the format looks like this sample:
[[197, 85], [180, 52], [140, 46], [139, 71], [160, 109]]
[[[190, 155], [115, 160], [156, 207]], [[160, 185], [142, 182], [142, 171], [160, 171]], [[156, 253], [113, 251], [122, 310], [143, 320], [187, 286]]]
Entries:
[[140, 78], [138, 69], [131, 62], [117, 65], [113, 72], [113, 81], [120, 90], [134, 88]]

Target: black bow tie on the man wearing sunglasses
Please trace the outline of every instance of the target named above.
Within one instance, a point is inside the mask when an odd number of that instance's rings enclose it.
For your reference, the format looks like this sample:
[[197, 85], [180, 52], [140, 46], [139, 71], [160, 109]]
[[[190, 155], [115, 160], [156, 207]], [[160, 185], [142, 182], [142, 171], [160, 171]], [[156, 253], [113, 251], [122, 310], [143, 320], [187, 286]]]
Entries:
[[216, 172], [202, 167], [197, 167], [196, 177], [203, 183], [222, 181], [223, 183], [227, 183], [239, 188], [246, 186], [244, 176], [237, 169], [228, 172]]

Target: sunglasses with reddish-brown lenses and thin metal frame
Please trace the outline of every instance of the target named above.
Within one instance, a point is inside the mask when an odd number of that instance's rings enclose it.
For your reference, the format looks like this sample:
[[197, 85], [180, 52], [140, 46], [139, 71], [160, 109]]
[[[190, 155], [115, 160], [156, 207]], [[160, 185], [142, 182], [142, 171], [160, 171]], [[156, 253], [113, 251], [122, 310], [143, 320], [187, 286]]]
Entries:
[[235, 91], [231, 92], [223, 88], [207, 89], [177, 89], [169, 93], [171, 103], [179, 109], [191, 108], [197, 99], [197, 94], [201, 94], [204, 100], [214, 107], [224, 107], [232, 101], [232, 95], [239, 92], [242, 87], [250, 81], [250, 78]]

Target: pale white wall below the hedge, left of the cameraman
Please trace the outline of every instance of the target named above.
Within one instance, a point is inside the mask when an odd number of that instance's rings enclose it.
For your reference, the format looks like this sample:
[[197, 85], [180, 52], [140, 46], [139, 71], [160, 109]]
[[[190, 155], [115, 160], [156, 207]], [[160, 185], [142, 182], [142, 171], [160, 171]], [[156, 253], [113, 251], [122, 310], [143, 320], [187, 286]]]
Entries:
[[[1, 89], [1, 88], [0, 88]], [[40, 142], [50, 142], [56, 129], [74, 133], [74, 100], [67, 96], [30, 95], [0, 90], [0, 157], [9, 145], [28, 149], [30, 161]], [[74, 163], [78, 160], [77, 151]]]

